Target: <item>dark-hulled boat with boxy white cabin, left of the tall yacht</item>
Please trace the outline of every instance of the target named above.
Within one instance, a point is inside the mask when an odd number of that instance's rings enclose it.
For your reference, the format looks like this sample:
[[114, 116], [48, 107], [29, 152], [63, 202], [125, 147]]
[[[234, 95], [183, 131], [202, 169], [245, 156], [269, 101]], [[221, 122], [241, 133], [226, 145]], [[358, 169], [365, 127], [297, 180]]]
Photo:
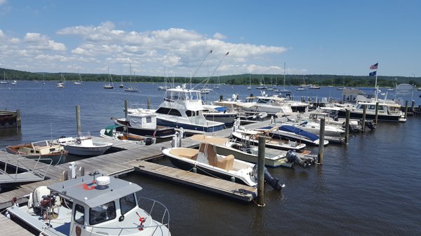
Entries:
[[130, 109], [126, 118], [112, 118], [118, 132], [128, 132], [145, 137], [166, 139], [175, 134], [174, 127], [156, 125], [156, 113], [147, 109]]

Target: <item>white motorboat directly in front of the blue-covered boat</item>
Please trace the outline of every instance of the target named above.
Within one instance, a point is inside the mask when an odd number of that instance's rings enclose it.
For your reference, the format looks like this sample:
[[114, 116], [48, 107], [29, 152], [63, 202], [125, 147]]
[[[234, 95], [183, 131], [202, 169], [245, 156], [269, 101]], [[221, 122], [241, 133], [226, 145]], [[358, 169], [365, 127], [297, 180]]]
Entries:
[[295, 150], [298, 153], [304, 151], [306, 144], [299, 143], [297, 141], [274, 139], [269, 136], [271, 130], [250, 130], [243, 126], [234, 125], [233, 132], [231, 133], [232, 138], [237, 139], [241, 142], [246, 141], [255, 146], [259, 145], [259, 137], [265, 136], [265, 146], [267, 148], [275, 148], [280, 150]]

